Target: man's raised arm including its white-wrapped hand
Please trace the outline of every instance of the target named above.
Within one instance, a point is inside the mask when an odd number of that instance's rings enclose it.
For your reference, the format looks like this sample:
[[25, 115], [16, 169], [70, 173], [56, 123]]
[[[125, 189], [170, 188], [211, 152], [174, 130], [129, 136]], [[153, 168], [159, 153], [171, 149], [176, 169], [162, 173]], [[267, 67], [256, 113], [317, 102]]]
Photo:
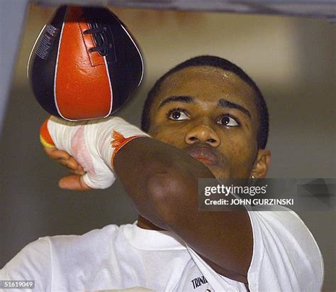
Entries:
[[[213, 178], [203, 163], [119, 118], [82, 124], [52, 118], [49, 131], [53, 152], [57, 148], [71, 155], [62, 158], [64, 165], [72, 164], [73, 156], [86, 171], [80, 178], [81, 169], [70, 167], [79, 175], [63, 178], [63, 187], [107, 188], [116, 173], [142, 217], [177, 234], [219, 274], [247, 281], [252, 258], [248, 214], [198, 210], [198, 178]], [[47, 140], [43, 127], [41, 133]]]

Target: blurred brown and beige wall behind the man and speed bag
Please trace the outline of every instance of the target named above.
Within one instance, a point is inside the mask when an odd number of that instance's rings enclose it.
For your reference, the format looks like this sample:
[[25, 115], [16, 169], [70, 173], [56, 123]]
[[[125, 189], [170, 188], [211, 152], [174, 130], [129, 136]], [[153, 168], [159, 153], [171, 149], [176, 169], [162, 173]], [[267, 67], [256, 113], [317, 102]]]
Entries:
[[[218, 55], [246, 70], [267, 99], [269, 177], [335, 178], [335, 25], [313, 18], [111, 9], [137, 38], [146, 63], [145, 80], [120, 116], [139, 125], [146, 94], [160, 75], [195, 55]], [[87, 193], [57, 188], [66, 171], [40, 147], [46, 114], [28, 85], [26, 63], [53, 11], [30, 5], [13, 76], [0, 142], [0, 267], [38, 237], [83, 234], [137, 217], [118, 181]], [[324, 291], [335, 291], [335, 212], [300, 215], [324, 256]]]

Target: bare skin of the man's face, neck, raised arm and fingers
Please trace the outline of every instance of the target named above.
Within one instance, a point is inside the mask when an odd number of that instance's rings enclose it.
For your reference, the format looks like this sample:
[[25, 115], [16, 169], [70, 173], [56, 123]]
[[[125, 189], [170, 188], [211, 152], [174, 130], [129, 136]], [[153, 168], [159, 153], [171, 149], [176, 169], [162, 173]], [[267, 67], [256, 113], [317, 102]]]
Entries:
[[[249, 216], [231, 206], [230, 212], [198, 211], [197, 183], [266, 176], [270, 152], [257, 147], [254, 99], [252, 88], [232, 72], [184, 68], [164, 80], [152, 104], [154, 139], [130, 141], [113, 161], [139, 213], [139, 227], [173, 232], [219, 274], [243, 283], [253, 248]], [[60, 187], [88, 188], [74, 158], [55, 148], [47, 151], [74, 172]]]

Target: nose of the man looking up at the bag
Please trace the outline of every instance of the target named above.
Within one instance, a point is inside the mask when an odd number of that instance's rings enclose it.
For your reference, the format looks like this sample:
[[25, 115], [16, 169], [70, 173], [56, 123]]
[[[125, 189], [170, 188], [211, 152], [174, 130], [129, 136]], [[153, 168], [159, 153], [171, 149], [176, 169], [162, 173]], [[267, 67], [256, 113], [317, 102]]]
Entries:
[[218, 134], [206, 124], [198, 124], [186, 133], [186, 144], [194, 144], [196, 142], [205, 142], [213, 147], [220, 145]]

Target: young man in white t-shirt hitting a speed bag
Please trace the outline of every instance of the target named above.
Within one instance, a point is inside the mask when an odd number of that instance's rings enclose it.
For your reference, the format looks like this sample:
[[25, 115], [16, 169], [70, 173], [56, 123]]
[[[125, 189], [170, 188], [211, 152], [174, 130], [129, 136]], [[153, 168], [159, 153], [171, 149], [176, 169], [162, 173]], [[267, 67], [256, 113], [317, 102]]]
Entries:
[[150, 136], [116, 117], [45, 122], [47, 155], [74, 173], [60, 187], [106, 188], [117, 175], [138, 222], [38, 239], [0, 279], [43, 291], [320, 291], [322, 257], [294, 212], [198, 210], [199, 178], [267, 174], [267, 107], [245, 72], [212, 56], [181, 63], [148, 94], [142, 129]]

